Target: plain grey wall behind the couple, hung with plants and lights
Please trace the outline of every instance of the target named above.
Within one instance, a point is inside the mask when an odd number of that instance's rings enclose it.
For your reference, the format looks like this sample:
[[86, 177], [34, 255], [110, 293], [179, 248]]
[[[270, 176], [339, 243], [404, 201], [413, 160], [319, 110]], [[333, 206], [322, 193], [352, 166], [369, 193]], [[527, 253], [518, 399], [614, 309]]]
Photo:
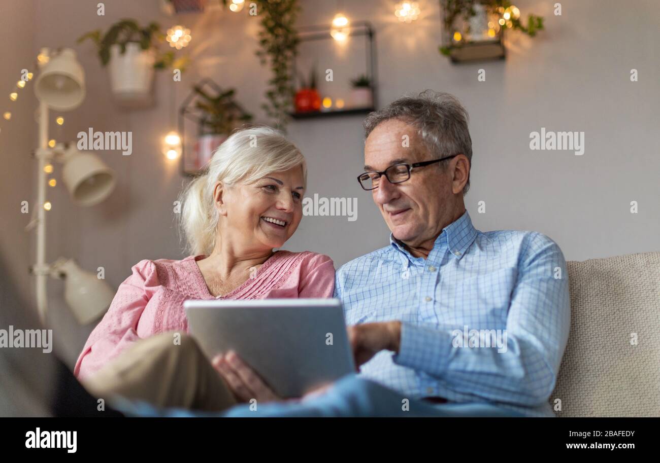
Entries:
[[[254, 55], [258, 19], [246, 11], [168, 18], [155, 0], [117, 0], [106, 2], [106, 16], [97, 16], [96, 3], [34, 0], [34, 11], [32, 2], [3, 8], [1, 21], [23, 24], [14, 27], [24, 40], [16, 41], [18, 48], [0, 49], [0, 83], [5, 89], [11, 87], [20, 67], [34, 60], [39, 47], [72, 46], [86, 71], [87, 97], [75, 111], [63, 114], [63, 127], [51, 127], [53, 137], [75, 139], [88, 127], [133, 131], [131, 156], [102, 154], [119, 177], [108, 201], [77, 208], [63, 188], [50, 190], [49, 260], [69, 256], [84, 268], [104, 266], [108, 282], [116, 288], [141, 259], [184, 257], [172, 214], [183, 178], [178, 166], [160, 153], [160, 139], [174, 120], [173, 108], [191, 83], [211, 77], [222, 86], [235, 87], [238, 100], [257, 115], [257, 121], [267, 123], [260, 104], [269, 71]], [[335, 14], [332, 1], [301, 3], [301, 25], [326, 23]], [[364, 0], [345, 5], [352, 20], [368, 19], [376, 28], [381, 106], [405, 92], [433, 88], [455, 94], [468, 109], [474, 155], [471, 191], [465, 201], [477, 228], [537, 230], [552, 237], [568, 260], [660, 249], [657, 1], [634, 0], [624, 8], [613, 0], [564, 1], [562, 16], [554, 16], [554, 1], [521, 0], [517, 6], [523, 15], [545, 16], [546, 30], [534, 39], [510, 34], [506, 61], [459, 66], [438, 53], [436, 1], [420, 1], [422, 16], [414, 24], [395, 19], [394, 3]], [[83, 32], [106, 29], [123, 17], [143, 23], [158, 20], [166, 26], [182, 23], [192, 30], [189, 50], [195, 67], [176, 84], [168, 73], [158, 74], [155, 108], [117, 109], [106, 71], [92, 47], [75, 44]], [[338, 59], [345, 55], [350, 53], [333, 53], [326, 47], [302, 60], [318, 63], [321, 73], [333, 69], [335, 91], [341, 93], [341, 86], [358, 73], [350, 59]], [[638, 82], [630, 82], [632, 68], [638, 69]], [[485, 82], [477, 80], [479, 69], [486, 70]], [[323, 89], [333, 91], [331, 86]], [[1, 199], [3, 223], [9, 224], [9, 232], [3, 232], [3, 259], [14, 269], [15, 284], [24, 297], [32, 300], [33, 282], [24, 270], [33, 259], [34, 235], [28, 242], [20, 232], [27, 218], [18, 214], [17, 202], [36, 191], [30, 182], [35, 164], [28, 160], [28, 151], [36, 144], [35, 105], [32, 97], [21, 99], [11, 132], [5, 121], [0, 125], [5, 160], [2, 188], [9, 192]], [[306, 217], [287, 249], [326, 253], [339, 266], [387, 243], [389, 232], [380, 213], [354, 179], [363, 164], [361, 122], [362, 117], [351, 116], [290, 123], [290, 138], [308, 158], [308, 194], [357, 197], [358, 220]], [[529, 150], [529, 133], [541, 127], [584, 131], [585, 153]], [[485, 214], [477, 212], [479, 201], [486, 202]], [[630, 201], [638, 201], [638, 214], [630, 213]], [[71, 364], [92, 326], [77, 326], [63, 303], [60, 282], [50, 282], [49, 300], [50, 322], [56, 338], [66, 340], [64, 353]]]

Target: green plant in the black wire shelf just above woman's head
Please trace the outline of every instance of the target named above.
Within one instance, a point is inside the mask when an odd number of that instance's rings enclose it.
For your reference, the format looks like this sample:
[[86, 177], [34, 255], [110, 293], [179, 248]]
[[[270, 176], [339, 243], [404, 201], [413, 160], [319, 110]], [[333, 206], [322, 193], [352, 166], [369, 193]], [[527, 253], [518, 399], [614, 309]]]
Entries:
[[239, 125], [252, 120], [252, 115], [234, 101], [236, 90], [233, 88], [220, 90], [216, 95], [209, 94], [199, 85], [193, 86], [193, 90], [199, 96], [195, 108], [203, 114], [199, 135], [229, 135]]

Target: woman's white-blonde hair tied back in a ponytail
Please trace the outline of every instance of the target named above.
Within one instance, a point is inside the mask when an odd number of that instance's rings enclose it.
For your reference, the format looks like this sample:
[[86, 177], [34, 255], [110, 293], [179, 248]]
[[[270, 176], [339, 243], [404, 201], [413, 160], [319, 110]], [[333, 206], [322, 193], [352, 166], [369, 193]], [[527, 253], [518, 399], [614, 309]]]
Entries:
[[220, 215], [215, 207], [213, 187], [249, 184], [271, 173], [302, 167], [303, 185], [307, 186], [304, 156], [281, 132], [271, 127], [251, 127], [234, 132], [213, 152], [202, 175], [195, 178], [179, 195], [183, 208], [180, 229], [187, 242], [186, 250], [194, 255], [209, 255], [215, 247]]

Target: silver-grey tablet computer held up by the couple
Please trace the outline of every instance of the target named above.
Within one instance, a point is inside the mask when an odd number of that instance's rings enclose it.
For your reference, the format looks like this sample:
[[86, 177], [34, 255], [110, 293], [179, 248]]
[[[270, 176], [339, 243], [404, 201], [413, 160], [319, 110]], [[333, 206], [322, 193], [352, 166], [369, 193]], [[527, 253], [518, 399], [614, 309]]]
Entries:
[[183, 307], [209, 359], [234, 350], [282, 398], [355, 371], [339, 299], [204, 299]]

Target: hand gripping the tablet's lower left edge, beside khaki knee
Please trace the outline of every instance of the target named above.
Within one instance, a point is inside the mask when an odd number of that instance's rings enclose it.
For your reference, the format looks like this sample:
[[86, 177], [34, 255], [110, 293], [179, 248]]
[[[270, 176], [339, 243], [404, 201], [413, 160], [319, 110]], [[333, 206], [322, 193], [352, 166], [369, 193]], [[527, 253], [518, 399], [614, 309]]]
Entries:
[[239, 402], [249, 402], [250, 399], [257, 399], [257, 402], [282, 400], [236, 352], [216, 355], [211, 364], [227, 382]]

